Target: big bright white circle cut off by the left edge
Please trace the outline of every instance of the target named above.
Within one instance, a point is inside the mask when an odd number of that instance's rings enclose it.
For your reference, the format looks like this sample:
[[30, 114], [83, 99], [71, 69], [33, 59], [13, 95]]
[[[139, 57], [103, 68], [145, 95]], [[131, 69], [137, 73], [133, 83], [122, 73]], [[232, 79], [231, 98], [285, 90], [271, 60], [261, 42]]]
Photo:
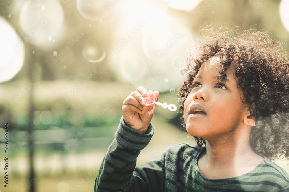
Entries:
[[0, 31], [0, 82], [4, 82], [12, 79], [22, 68], [25, 49], [14, 28], [2, 17]]

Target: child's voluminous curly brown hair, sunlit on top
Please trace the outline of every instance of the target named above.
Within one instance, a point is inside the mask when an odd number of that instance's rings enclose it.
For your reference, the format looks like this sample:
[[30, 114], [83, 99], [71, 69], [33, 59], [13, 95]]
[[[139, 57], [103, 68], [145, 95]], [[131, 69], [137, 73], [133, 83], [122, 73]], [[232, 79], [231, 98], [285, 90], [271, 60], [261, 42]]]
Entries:
[[[221, 66], [218, 80], [225, 80], [225, 71], [231, 64], [235, 67], [237, 87], [244, 94], [242, 102], [249, 106], [255, 120], [250, 131], [253, 151], [270, 160], [281, 155], [289, 159], [288, 52], [266, 32], [252, 28], [229, 29], [214, 24], [204, 28], [201, 35], [204, 39], [190, 50], [181, 70], [184, 81], [177, 94], [179, 112], [184, 112], [184, 102], [201, 65], [211, 57], [218, 57]], [[186, 127], [184, 115], [181, 124]], [[205, 139], [194, 138], [200, 147], [206, 144]]]

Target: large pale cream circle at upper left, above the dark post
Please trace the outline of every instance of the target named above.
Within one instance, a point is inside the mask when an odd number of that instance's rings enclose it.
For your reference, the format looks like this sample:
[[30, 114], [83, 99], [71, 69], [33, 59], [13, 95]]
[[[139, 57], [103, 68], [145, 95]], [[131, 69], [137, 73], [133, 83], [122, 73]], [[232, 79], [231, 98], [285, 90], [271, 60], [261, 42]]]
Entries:
[[25, 32], [25, 41], [41, 49], [55, 46], [51, 40], [64, 33], [64, 13], [57, 0], [25, 1], [19, 22]]

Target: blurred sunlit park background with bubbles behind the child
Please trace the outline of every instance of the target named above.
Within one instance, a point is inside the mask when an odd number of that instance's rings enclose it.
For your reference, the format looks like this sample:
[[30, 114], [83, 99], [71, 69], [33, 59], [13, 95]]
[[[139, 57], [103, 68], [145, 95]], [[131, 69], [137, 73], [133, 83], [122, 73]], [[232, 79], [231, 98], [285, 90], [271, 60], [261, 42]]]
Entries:
[[[0, 191], [93, 191], [132, 91], [158, 90], [159, 102], [177, 105], [179, 71], [211, 22], [267, 31], [289, 50], [288, 7], [289, 0], [0, 1]], [[156, 106], [155, 135], [137, 164], [195, 143], [179, 117]], [[289, 173], [284, 159], [275, 163]]]

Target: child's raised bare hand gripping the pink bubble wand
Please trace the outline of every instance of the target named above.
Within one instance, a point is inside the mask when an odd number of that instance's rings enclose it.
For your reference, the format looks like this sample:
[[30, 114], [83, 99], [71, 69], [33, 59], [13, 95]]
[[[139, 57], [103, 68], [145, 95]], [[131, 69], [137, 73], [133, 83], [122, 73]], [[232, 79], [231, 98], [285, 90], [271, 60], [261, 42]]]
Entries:
[[[158, 98], [159, 92], [153, 92]], [[148, 114], [147, 110], [151, 111], [153, 106], [144, 106], [142, 99], [148, 94], [146, 88], [138, 87], [136, 91], [129, 94], [124, 100], [122, 113], [125, 124], [140, 133], [145, 133], [149, 127], [149, 123], [153, 118], [153, 114]]]

